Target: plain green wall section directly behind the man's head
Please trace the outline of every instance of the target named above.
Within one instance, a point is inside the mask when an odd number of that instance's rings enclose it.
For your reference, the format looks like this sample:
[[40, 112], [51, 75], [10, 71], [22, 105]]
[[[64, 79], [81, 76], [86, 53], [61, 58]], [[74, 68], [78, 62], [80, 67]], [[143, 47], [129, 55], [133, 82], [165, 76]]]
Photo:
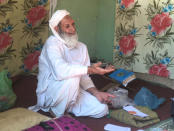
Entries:
[[59, 0], [57, 9], [66, 9], [76, 22], [79, 40], [88, 46], [89, 55], [95, 56], [99, 0]]

